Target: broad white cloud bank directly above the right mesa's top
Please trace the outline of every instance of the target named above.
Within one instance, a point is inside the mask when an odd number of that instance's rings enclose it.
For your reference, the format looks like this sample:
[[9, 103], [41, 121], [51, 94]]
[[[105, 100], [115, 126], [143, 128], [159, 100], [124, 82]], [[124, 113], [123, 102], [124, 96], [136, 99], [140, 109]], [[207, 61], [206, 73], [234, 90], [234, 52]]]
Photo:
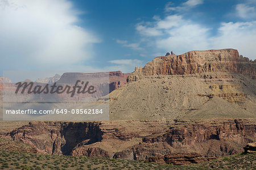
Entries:
[[174, 51], [181, 54], [192, 50], [235, 48], [243, 56], [256, 59], [256, 21], [222, 23], [217, 35], [210, 35], [212, 28], [184, 19], [182, 15], [168, 15], [151, 23], [143, 23], [144, 30], [150, 28], [162, 32], [161, 35], [154, 35], [139, 31], [143, 39], [151, 42], [147, 48], [158, 50], [152, 53], [162, 52], [164, 55]]

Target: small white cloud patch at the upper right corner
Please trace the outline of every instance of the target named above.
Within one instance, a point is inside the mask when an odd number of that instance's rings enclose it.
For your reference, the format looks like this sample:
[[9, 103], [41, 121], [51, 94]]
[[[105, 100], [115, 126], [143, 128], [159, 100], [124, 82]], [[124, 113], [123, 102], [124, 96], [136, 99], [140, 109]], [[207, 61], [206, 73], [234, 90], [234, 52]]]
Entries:
[[237, 15], [243, 19], [256, 18], [256, 9], [254, 6], [250, 6], [246, 3], [240, 3], [236, 5]]

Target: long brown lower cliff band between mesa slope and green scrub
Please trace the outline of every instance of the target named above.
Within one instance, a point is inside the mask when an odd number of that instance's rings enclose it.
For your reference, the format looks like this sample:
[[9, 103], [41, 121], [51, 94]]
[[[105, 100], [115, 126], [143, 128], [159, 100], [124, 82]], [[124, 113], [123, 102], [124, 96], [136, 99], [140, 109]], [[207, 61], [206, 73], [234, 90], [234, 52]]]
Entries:
[[255, 130], [255, 119], [31, 122], [6, 136], [40, 153], [147, 160], [183, 152], [195, 157], [236, 154], [256, 140]]

